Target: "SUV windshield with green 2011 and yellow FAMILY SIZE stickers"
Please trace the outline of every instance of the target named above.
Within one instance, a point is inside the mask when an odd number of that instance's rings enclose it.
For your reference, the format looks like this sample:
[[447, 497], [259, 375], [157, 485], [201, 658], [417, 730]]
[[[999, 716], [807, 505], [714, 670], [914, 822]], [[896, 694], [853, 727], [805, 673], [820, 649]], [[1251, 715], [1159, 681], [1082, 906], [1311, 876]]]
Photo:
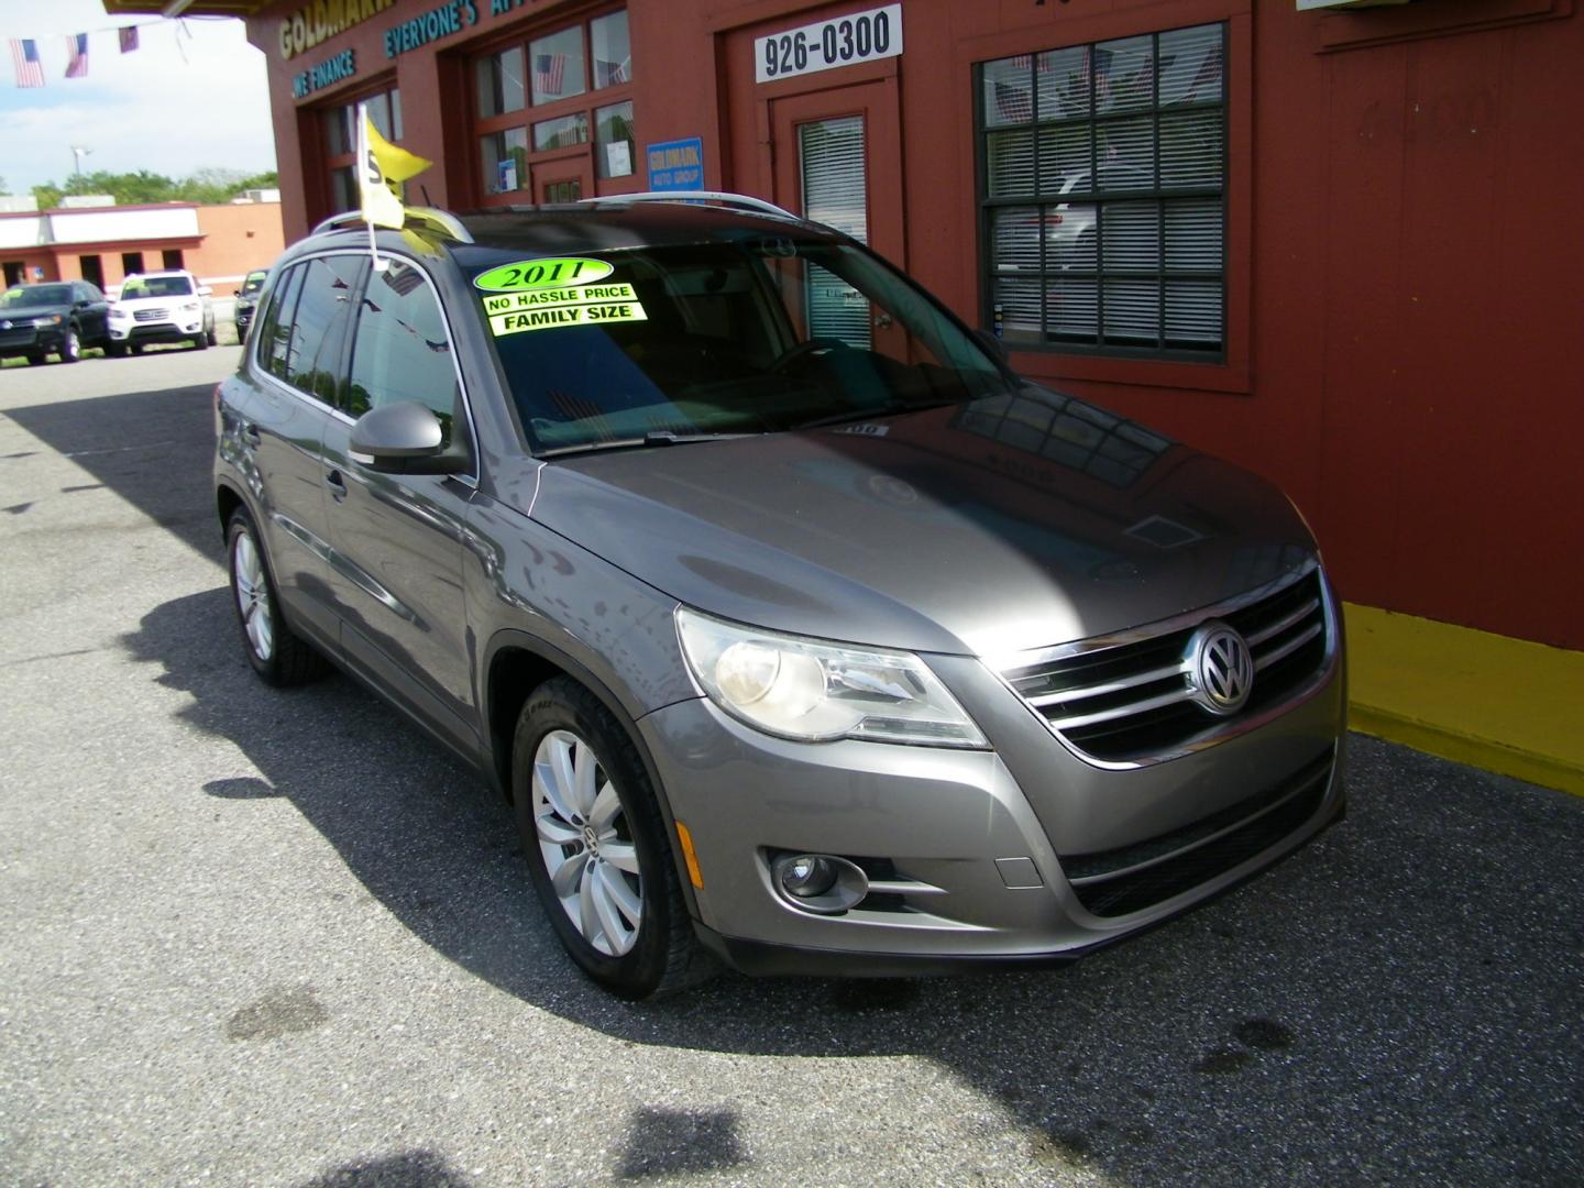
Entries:
[[501, 252], [472, 277], [535, 453], [795, 429], [1009, 390], [928, 296], [840, 242]]

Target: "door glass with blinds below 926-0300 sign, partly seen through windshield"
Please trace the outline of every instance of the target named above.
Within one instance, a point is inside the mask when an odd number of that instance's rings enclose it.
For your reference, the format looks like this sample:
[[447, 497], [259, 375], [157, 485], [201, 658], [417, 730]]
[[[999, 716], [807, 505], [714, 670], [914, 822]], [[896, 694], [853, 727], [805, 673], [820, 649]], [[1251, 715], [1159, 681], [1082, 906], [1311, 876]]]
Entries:
[[[870, 241], [868, 185], [863, 171], [863, 117], [800, 124], [798, 162], [803, 173], [803, 215]], [[870, 303], [824, 268], [808, 269], [809, 337], [841, 339], [849, 347], [870, 345]]]

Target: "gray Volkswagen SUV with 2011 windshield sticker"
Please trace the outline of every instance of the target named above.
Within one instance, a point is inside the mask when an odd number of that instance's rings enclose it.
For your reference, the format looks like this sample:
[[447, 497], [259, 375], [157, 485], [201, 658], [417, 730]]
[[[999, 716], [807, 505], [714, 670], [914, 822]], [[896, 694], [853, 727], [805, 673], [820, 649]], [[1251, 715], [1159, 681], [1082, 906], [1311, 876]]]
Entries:
[[846, 236], [654, 198], [325, 223], [217, 393], [253, 668], [477, 767], [591, 977], [1071, 960], [1342, 814], [1280, 491]]

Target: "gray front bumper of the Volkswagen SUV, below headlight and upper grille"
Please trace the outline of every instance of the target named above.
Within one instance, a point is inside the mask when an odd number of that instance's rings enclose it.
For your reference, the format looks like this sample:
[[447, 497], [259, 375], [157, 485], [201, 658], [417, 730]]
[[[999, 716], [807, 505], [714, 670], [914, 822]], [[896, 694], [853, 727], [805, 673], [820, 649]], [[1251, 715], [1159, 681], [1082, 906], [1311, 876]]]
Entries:
[[[1340, 661], [1266, 727], [1131, 771], [1072, 756], [976, 661], [931, 665], [993, 751], [790, 743], [703, 699], [640, 719], [697, 851], [699, 935], [727, 963], [849, 976], [1061, 963], [1236, 887], [1343, 811]], [[1118, 806], [1115, 849], [1066, 852], [1076, 822]], [[811, 914], [773, 885], [786, 852], [855, 860], [884, 890]], [[1117, 885], [1133, 879], [1120, 908], [1069, 879], [1069, 866], [1091, 878], [1106, 862], [1123, 870]]]

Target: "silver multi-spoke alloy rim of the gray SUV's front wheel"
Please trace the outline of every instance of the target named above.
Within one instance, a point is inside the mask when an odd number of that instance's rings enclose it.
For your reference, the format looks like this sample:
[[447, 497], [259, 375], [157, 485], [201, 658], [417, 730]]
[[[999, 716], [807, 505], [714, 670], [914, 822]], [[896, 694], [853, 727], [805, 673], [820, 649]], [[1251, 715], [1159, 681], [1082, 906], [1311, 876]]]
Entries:
[[632, 950], [643, 879], [627, 813], [594, 748], [551, 730], [534, 751], [534, 832], [556, 898], [597, 952]]

